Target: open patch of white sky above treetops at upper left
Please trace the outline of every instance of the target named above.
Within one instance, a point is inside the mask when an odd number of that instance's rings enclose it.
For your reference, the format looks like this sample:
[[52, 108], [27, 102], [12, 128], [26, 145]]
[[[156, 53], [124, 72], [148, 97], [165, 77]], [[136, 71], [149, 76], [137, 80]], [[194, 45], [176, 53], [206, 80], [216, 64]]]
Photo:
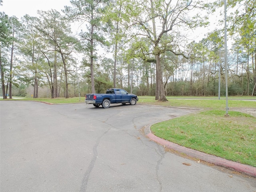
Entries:
[[26, 14], [38, 16], [37, 10], [56, 9], [61, 12], [65, 5], [70, 6], [70, 0], [3, 0], [0, 12], [20, 19]]

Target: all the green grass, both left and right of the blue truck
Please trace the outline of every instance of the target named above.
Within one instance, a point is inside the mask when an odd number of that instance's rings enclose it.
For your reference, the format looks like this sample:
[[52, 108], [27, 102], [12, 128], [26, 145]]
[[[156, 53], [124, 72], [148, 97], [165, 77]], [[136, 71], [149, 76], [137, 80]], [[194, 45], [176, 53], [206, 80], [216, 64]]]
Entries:
[[[222, 97], [167, 97], [158, 102], [154, 97], [140, 96], [138, 104], [200, 108], [200, 112], [160, 122], [151, 126], [160, 138], [213, 154], [228, 160], [256, 167], [256, 117], [246, 110], [256, 110], [255, 97], [229, 97], [229, 117], [226, 98]], [[19, 99], [17, 99], [19, 100]], [[84, 102], [84, 98], [25, 98], [54, 104]], [[239, 112], [242, 111], [242, 112]]]

